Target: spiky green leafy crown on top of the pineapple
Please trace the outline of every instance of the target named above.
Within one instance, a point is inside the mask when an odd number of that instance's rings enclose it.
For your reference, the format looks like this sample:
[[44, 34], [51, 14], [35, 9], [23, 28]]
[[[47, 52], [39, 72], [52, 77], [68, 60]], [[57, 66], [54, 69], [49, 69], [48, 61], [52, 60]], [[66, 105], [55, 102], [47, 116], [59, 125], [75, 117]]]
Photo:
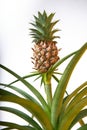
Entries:
[[54, 34], [59, 29], [54, 29], [54, 25], [59, 21], [52, 21], [55, 13], [47, 15], [46, 11], [42, 14], [38, 12], [38, 17], [34, 15], [35, 21], [31, 23], [34, 28], [30, 28], [33, 42], [39, 43], [40, 41], [53, 41], [55, 38], [60, 38]]

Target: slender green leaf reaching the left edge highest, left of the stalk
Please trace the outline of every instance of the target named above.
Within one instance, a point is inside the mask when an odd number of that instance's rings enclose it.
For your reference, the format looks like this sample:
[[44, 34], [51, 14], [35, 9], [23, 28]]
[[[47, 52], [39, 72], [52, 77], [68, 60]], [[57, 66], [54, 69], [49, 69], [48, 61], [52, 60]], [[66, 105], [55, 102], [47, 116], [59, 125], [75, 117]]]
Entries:
[[15, 72], [13, 72], [12, 70], [10, 70], [9, 68], [0, 65], [0, 67], [2, 69], [4, 69], [5, 71], [7, 71], [8, 73], [12, 74], [13, 76], [15, 76], [18, 80], [20, 80], [29, 90], [31, 90], [31, 92], [39, 99], [40, 103], [42, 104], [44, 110], [46, 110], [46, 112], [49, 114], [49, 108], [47, 103], [45, 102], [44, 98], [42, 97], [42, 95], [33, 87], [33, 85], [31, 85], [29, 82], [27, 82], [25, 79], [23, 79], [21, 76], [19, 76], [18, 74], [16, 74]]

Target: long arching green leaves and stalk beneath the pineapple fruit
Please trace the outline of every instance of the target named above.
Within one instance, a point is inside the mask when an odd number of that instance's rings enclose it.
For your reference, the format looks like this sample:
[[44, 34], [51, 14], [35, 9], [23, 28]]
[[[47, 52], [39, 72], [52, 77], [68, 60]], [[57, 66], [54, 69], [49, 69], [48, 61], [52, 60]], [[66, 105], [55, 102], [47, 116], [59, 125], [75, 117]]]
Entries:
[[[47, 17], [44, 12], [44, 19], [42, 15], [38, 13], [39, 19], [44, 22]], [[34, 16], [35, 17], [35, 16]], [[51, 21], [53, 14], [49, 15], [49, 21]], [[35, 17], [38, 22], [38, 18]], [[0, 65], [1, 69], [10, 73], [17, 80], [12, 81], [9, 84], [0, 83], [2, 88], [0, 89], [0, 101], [16, 103], [25, 108], [30, 114], [26, 114], [24, 111], [19, 110], [17, 107], [9, 107], [7, 105], [0, 106], [1, 111], [13, 113], [27, 122], [27, 125], [15, 124], [11, 120], [0, 121], [0, 126], [5, 126], [5, 129], [18, 129], [18, 130], [69, 130], [77, 122], [87, 116], [87, 81], [78, 86], [71, 94], [66, 95], [66, 88], [73, 70], [80, 60], [81, 56], [87, 50], [87, 43], [85, 43], [79, 50], [65, 56], [56, 62], [48, 72], [41, 74], [33, 72], [30, 75], [21, 77], [14, 71], [10, 70], [6, 66]], [[64, 61], [71, 58], [70, 62], [66, 66], [64, 72], [58, 73], [55, 71]], [[57, 75], [61, 75], [58, 79]], [[36, 77], [37, 76], [37, 77]], [[33, 86], [27, 78], [36, 77], [36, 80], [41, 79], [41, 84], [44, 84], [47, 99], [45, 99], [41, 93]], [[54, 78], [57, 87], [52, 95], [51, 91], [51, 79]], [[25, 90], [21, 90], [17, 86], [17, 83], [21, 82], [25, 85], [33, 95], [29, 94]], [[5, 89], [9, 88], [9, 89]], [[12, 90], [12, 91], [11, 91]], [[17, 92], [17, 93], [16, 93]], [[80, 123], [81, 124], [81, 123]], [[85, 123], [78, 130], [86, 130], [87, 125]]]

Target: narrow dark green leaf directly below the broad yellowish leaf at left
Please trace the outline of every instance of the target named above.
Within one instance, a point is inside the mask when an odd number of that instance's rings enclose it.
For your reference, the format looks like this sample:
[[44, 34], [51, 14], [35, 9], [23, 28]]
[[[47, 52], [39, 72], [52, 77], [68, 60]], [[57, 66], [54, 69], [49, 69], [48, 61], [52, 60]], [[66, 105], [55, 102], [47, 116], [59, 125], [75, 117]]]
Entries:
[[6, 106], [0, 107], [0, 110], [13, 113], [13, 114], [19, 116], [20, 118], [24, 119], [25, 121], [27, 121], [29, 124], [31, 124], [37, 130], [42, 130], [41, 127], [39, 126], [39, 124], [37, 124], [36, 121], [34, 121], [29, 115], [27, 115], [26, 113], [24, 113], [20, 110], [17, 110], [15, 108], [6, 107]]

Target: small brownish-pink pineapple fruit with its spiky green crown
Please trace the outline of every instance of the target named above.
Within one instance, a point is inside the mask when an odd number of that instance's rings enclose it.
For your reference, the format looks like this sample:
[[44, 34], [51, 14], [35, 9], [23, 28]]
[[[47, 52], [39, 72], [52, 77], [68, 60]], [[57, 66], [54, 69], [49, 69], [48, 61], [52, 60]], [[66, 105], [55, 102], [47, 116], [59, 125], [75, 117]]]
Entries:
[[31, 23], [34, 28], [30, 28], [32, 38], [35, 42], [33, 50], [33, 64], [34, 68], [41, 73], [45, 73], [48, 69], [55, 64], [58, 59], [58, 49], [56, 46], [54, 33], [59, 31], [53, 29], [54, 25], [59, 21], [52, 22], [54, 13], [47, 15], [44, 11], [42, 14], [38, 12], [38, 17], [34, 16], [34, 23]]

